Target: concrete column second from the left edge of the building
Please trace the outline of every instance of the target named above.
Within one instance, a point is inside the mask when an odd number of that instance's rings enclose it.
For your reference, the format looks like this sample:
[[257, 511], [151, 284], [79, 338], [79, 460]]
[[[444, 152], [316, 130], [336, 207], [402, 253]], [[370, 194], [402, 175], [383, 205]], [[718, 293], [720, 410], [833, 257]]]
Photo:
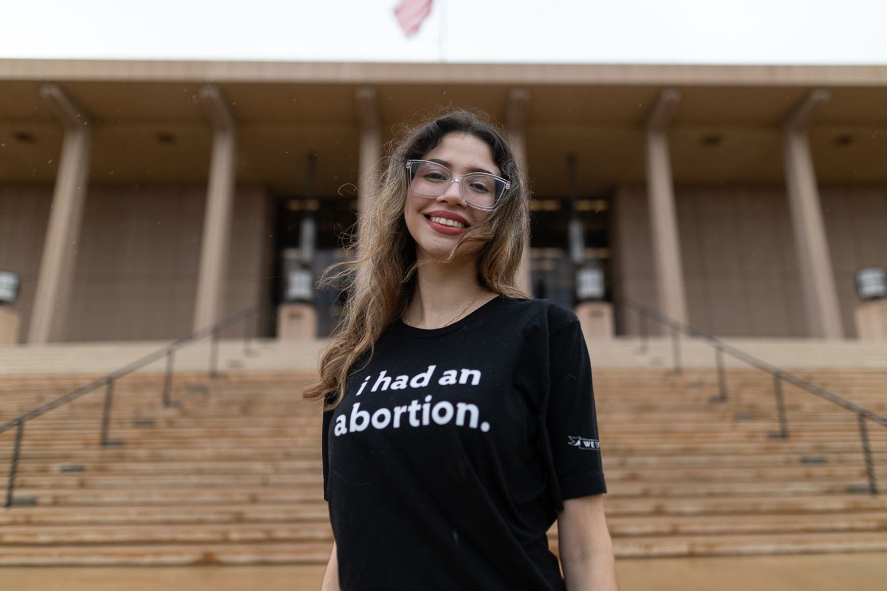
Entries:
[[200, 102], [213, 126], [213, 153], [203, 218], [194, 330], [216, 323], [223, 314], [237, 166], [237, 127], [222, 91], [215, 86], [204, 86], [200, 89]]

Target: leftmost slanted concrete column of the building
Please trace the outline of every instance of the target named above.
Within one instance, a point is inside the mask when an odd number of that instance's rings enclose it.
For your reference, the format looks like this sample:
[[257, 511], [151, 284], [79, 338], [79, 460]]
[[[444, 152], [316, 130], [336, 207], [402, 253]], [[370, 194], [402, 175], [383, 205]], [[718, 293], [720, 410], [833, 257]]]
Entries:
[[27, 330], [28, 343], [47, 343], [63, 336], [89, 182], [92, 141], [89, 115], [64, 90], [46, 84], [41, 87], [40, 95], [65, 126], [65, 140], [52, 194], [49, 227], [43, 242], [34, 311]]

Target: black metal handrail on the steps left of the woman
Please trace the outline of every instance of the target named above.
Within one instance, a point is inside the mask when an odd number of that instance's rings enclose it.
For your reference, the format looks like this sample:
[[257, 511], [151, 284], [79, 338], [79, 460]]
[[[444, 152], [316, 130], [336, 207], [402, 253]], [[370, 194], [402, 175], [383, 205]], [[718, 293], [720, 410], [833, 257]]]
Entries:
[[108, 446], [120, 446], [122, 445], [122, 441], [120, 439], [108, 439], [108, 424], [111, 418], [111, 408], [112, 402], [114, 398], [114, 382], [120, 379], [121, 377], [127, 376], [130, 373], [137, 371], [138, 369], [144, 368], [146, 365], [149, 365], [153, 362], [162, 359], [164, 356], [167, 358], [167, 366], [166, 366], [166, 375], [163, 379], [163, 392], [161, 394], [161, 400], [163, 402], [163, 406], [171, 407], [178, 406], [178, 403], [169, 400], [169, 393], [172, 388], [172, 371], [173, 371], [173, 357], [176, 352], [183, 348], [184, 346], [191, 345], [199, 341], [202, 338], [206, 338], [208, 336], [211, 337], [210, 344], [210, 352], [209, 352], [209, 370], [208, 376], [210, 378], [219, 377], [220, 374], [216, 369], [216, 365], [218, 362], [218, 345], [219, 345], [219, 337], [222, 330], [232, 326], [232, 324], [239, 323], [240, 321], [244, 322], [244, 353], [252, 354], [252, 348], [249, 344], [249, 336], [246, 328], [247, 318], [250, 316], [258, 314], [265, 306], [264, 305], [255, 305], [250, 307], [245, 307], [238, 312], [233, 313], [232, 315], [224, 317], [222, 320], [213, 324], [212, 326], [208, 326], [203, 329], [194, 330], [190, 335], [183, 338], [178, 338], [167, 346], [154, 351], [152, 354], [147, 354], [141, 359], [136, 360], [135, 362], [131, 362], [128, 365], [123, 366], [121, 369], [116, 369], [106, 376], [99, 377], [96, 380], [93, 380], [89, 384], [82, 385], [79, 388], [75, 388], [71, 392], [59, 396], [59, 398], [55, 400], [51, 400], [42, 406], [34, 408], [33, 410], [29, 410], [27, 413], [17, 416], [13, 418], [11, 421], [7, 421], [4, 424], [0, 424], [0, 433], [5, 431], [9, 431], [13, 427], [16, 428], [16, 436], [15, 443], [12, 448], [12, 461], [10, 463], [10, 471], [9, 471], [9, 479], [6, 486], [6, 503], [5, 507], [12, 507], [12, 505], [32, 505], [35, 504], [33, 499], [16, 499], [13, 496], [15, 491], [15, 476], [17, 467], [19, 464], [19, 456], [21, 452], [21, 437], [22, 433], [25, 429], [25, 424], [27, 421], [33, 420], [38, 416], [42, 416], [49, 411], [59, 408], [62, 405], [67, 404], [72, 400], [76, 400], [80, 398], [84, 394], [88, 394], [102, 386], [106, 386], [105, 393], [105, 406], [102, 411], [102, 422], [101, 422], [101, 435], [99, 442], [102, 447]]

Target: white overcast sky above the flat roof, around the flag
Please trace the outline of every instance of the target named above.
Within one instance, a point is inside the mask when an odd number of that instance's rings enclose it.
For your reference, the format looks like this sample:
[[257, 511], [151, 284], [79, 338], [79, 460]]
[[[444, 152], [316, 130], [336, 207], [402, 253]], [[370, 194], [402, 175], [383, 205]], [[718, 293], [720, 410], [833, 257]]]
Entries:
[[397, 2], [0, 0], [0, 58], [887, 64], [885, 0]]

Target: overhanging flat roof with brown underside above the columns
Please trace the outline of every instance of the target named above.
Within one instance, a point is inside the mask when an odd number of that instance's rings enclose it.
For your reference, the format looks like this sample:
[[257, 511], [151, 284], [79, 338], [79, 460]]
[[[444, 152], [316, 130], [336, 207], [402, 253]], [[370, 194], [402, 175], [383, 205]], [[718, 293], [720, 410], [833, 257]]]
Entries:
[[[0, 182], [51, 182], [63, 130], [39, 96], [61, 85], [96, 121], [93, 182], [206, 179], [212, 132], [200, 85], [216, 84], [239, 125], [239, 181], [298, 192], [318, 153], [318, 192], [357, 181], [355, 93], [379, 97], [383, 140], [415, 113], [481, 108], [502, 120], [510, 89], [530, 91], [530, 175], [567, 192], [643, 181], [643, 121], [663, 88], [683, 98], [671, 125], [678, 183], [782, 179], [780, 122], [811, 89], [831, 100], [811, 130], [820, 181], [887, 182], [887, 66], [597, 66], [0, 60]], [[31, 141], [20, 138], [30, 136]], [[167, 134], [173, 143], [161, 143]]]

